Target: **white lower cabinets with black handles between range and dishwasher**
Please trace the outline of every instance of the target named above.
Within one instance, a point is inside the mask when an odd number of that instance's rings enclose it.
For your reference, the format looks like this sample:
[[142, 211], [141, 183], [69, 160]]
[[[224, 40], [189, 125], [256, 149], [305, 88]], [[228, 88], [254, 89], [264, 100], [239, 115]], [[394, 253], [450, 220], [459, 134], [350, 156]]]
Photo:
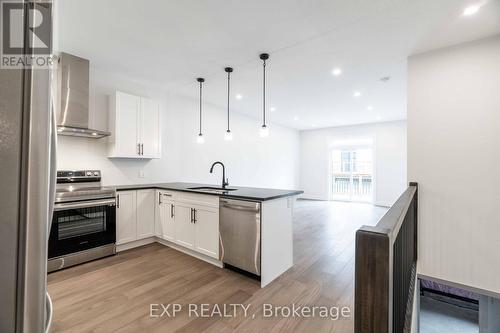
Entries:
[[219, 259], [217, 197], [168, 190], [118, 192], [117, 245], [157, 238]]

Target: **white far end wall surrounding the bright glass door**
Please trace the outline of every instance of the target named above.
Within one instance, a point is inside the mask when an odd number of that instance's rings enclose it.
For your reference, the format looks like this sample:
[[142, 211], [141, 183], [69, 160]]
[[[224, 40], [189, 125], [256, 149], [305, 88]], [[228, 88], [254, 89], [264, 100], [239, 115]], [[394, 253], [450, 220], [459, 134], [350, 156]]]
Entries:
[[392, 205], [407, 186], [404, 121], [303, 131], [300, 139], [300, 188], [304, 197], [329, 198], [330, 151], [338, 141], [373, 140], [375, 204]]

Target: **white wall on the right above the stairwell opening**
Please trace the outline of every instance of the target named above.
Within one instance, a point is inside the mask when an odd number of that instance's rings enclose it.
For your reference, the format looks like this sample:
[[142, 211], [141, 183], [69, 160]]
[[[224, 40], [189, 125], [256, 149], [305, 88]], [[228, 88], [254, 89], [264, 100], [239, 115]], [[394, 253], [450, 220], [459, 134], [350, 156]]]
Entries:
[[419, 273], [500, 293], [500, 35], [408, 65]]

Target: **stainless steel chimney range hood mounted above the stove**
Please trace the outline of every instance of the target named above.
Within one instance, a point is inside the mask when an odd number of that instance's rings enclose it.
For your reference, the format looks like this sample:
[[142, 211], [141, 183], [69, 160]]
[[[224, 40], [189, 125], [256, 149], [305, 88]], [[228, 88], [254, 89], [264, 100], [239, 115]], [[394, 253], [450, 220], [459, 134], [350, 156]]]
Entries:
[[61, 107], [57, 117], [59, 135], [103, 138], [109, 132], [89, 128], [89, 61], [61, 53]]

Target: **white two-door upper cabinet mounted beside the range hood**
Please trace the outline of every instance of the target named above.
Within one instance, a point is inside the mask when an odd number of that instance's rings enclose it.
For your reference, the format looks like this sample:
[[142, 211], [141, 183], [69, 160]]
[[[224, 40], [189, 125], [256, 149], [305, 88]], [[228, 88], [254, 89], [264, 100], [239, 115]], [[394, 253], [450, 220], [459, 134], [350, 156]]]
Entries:
[[109, 104], [109, 157], [160, 158], [159, 103], [116, 91]]

